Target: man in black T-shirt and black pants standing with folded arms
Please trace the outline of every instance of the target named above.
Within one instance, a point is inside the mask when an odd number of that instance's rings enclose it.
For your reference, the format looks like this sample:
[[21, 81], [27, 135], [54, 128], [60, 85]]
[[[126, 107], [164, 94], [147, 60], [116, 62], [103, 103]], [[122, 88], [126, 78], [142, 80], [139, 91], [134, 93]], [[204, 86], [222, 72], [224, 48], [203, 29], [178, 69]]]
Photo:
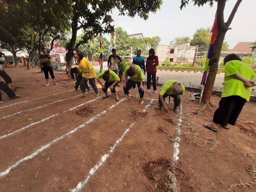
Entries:
[[45, 76], [45, 79], [46, 79], [45, 86], [50, 85], [50, 83], [49, 83], [49, 73], [50, 73], [50, 76], [53, 80], [53, 84], [58, 85], [55, 82], [55, 76], [53, 75], [53, 69], [52, 69], [52, 64], [51, 64], [52, 57], [49, 54], [47, 54], [47, 50], [46, 50], [45, 47], [42, 47], [41, 51], [43, 52], [43, 54], [41, 54], [39, 56], [39, 59], [40, 59], [40, 62], [42, 63], [42, 65], [43, 65], [44, 76]]

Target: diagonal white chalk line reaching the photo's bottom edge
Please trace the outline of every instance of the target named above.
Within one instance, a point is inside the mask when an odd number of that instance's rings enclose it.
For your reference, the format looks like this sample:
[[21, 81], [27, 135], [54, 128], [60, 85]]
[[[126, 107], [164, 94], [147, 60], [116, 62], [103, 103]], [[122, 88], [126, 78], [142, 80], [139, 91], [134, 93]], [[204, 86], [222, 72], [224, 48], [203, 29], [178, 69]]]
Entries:
[[[151, 102], [149, 102], [148, 105], [146, 105], [145, 109], [143, 110], [143, 112], [146, 111], [146, 109], [149, 107], [149, 105], [154, 101], [154, 99], [151, 99]], [[105, 154], [101, 157], [101, 160], [98, 162], [97, 165], [95, 165], [93, 168], [91, 168], [89, 175], [87, 176], [87, 178], [84, 181], [81, 181], [78, 183], [78, 185], [74, 188], [71, 189], [70, 191], [72, 192], [78, 192], [79, 190], [81, 190], [85, 184], [88, 182], [88, 180], [90, 179], [90, 177], [97, 171], [97, 169], [99, 169], [103, 163], [107, 160], [108, 156], [110, 155], [110, 153], [112, 153], [114, 151], [114, 149], [116, 148], [116, 146], [118, 145], [118, 143], [123, 139], [123, 137], [126, 135], [126, 133], [128, 133], [128, 131], [130, 131], [131, 127], [134, 125], [135, 122], [131, 123], [130, 127], [128, 129], [125, 130], [125, 132], [122, 134], [122, 136], [116, 141], [116, 143], [110, 148], [108, 154]]]

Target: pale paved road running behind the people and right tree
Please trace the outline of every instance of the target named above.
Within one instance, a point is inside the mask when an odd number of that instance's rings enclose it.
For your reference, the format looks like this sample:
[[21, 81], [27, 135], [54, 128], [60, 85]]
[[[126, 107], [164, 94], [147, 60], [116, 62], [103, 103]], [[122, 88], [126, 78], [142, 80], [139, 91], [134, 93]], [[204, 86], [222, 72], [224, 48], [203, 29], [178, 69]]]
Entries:
[[[97, 73], [99, 73], [100, 67], [94, 67]], [[103, 67], [104, 70], [107, 70], [107, 67]], [[157, 77], [159, 77], [159, 82], [165, 82], [169, 79], [175, 79], [184, 83], [186, 86], [189, 86], [189, 83], [192, 85], [200, 85], [203, 73], [185, 73], [185, 72], [168, 72], [168, 71], [157, 71]], [[146, 79], [146, 75], [145, 75]], [[224, 81], [224, 75], [217, 74], [214, 86], [223, 87], [222, 83]]]

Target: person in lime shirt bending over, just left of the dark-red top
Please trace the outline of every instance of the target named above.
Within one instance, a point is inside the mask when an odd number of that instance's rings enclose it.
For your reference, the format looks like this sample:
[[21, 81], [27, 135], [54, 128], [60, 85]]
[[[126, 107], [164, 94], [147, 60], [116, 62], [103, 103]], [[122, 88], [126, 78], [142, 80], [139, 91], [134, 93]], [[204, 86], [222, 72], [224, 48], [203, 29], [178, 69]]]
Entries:
[[[130, 66], [125, 67], [124, 71], [124, 76], [125, 76], [125, 83], [123, 84], [123, 91], [125, 92], [125, 95], [127, 95], [127, 98], [125, 101], [128, 99], [131, 99], [129, 95], [129, 90], [137, 84], [139, 87], [139, 93], [140, 93], [140, 104], [144, 104], [143, 102], [143, 96], [144, 96], [144, 75], [143, 72], [140, 68], [140, 66], [131, 64]], [[130, 76], [130, 79], [127, 81], [127, 77]]]

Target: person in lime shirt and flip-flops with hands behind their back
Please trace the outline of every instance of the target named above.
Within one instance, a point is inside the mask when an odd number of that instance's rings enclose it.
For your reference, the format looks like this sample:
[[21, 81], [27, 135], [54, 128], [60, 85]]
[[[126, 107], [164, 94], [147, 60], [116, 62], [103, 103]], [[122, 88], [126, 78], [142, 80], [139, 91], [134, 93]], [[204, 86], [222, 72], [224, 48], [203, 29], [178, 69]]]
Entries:
[[250, 99], [251, 87], [256, 86], [256, 74], [238, 55], [227, 55], [224, 65], [224, 88], [219, 108], [214, 113], [213, 122], [204, 124], [212, 131], [219, 131], [218, 124], [227, 130], [228, 124], [235, 125], [245, 102]]

